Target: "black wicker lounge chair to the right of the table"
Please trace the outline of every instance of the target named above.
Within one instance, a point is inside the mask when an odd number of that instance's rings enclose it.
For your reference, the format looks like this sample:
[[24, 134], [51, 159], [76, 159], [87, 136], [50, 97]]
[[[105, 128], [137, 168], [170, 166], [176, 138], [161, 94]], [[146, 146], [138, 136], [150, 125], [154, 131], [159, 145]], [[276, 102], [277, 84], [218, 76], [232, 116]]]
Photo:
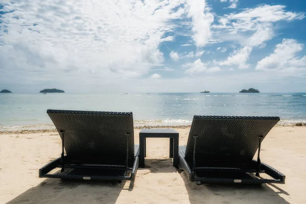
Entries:
[[[194, 116], [179, 167], [200, 183], [285, 184], [285, 175], [260, 161], [261, 142], [279, 117]], [[253, 160], [257, 149], [257, 160]]]

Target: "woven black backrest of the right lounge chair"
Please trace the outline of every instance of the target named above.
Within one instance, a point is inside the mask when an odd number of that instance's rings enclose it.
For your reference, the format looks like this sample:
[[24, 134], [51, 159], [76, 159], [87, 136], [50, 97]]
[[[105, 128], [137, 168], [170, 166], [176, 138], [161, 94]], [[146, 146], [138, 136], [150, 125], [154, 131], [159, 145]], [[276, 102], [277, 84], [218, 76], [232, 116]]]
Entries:
[[196, 136], [196, 161], [250, 162], [279, 117], [194, 116], [185, 159], [193, 161]]

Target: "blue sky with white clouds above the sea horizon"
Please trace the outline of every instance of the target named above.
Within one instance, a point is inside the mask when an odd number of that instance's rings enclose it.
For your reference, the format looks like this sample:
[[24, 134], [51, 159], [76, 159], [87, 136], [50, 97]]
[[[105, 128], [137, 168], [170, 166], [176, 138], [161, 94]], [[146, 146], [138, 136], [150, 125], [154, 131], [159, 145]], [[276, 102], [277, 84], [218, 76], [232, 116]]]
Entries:
[[304, 0], [0, 0], [0, 90], [306, 92]]

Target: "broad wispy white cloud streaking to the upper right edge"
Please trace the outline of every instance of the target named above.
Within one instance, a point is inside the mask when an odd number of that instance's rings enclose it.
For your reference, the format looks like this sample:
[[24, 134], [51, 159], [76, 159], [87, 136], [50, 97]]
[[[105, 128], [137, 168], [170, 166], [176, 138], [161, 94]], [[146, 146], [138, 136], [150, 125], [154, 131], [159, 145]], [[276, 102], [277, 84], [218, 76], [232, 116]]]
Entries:
[[223, 41], [235, 41], [243, 46], [264, 47], [265, 42], [275, 36], [275, 22], [300, 20], [305, 17], [305, 13], [288, 12], [285, 9], [286, 6], [282, 5], [259, 5], [239, 13], [220, 16], [218, 23], [212, 25], [212, 28], [216, 29], [215, 36]]

